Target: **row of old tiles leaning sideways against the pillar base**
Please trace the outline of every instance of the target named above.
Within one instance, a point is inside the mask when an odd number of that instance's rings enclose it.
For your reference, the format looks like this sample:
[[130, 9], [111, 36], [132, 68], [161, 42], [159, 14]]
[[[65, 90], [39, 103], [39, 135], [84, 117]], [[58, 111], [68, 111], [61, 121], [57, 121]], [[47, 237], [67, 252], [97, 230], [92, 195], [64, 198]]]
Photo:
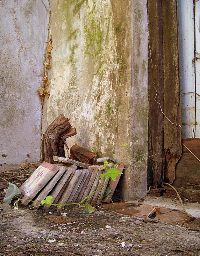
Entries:
[[[121, 163], [116, 166], [110, 163], [106, 169], [114, 167], [123, 171], [125, 165]], [[95, 206], [101, 205], [102, 201], [110, 203], [120, 175], [116, 181], [105, 180], [100, 178], [100, 175], [106, 172], [103, 165], [77, 168], [75, 164], [66, 167], [43, 162], [19, 188], [23, 195], [22, 203], [27, 205], [32, 201], [32, 205], [38, 208], [41, 200], [52, 196], [52, 204], [59, 204], [57, 212], [66, 208], [65, 204], [81, 202]], [[105, 192], [107, 187], [111, 191], [109, 195]], [[43, 209], [47, 211], [49, 208], [50, 205], [44, 205]]]

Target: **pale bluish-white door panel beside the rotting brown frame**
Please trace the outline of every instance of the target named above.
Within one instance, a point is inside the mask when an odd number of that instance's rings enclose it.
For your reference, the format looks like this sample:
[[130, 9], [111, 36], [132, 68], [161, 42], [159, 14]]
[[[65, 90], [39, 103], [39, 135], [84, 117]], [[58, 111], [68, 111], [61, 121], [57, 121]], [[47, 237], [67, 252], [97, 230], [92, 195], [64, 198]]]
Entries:
[[182, 136], [200, 137], [200, 1], [179, 0]]

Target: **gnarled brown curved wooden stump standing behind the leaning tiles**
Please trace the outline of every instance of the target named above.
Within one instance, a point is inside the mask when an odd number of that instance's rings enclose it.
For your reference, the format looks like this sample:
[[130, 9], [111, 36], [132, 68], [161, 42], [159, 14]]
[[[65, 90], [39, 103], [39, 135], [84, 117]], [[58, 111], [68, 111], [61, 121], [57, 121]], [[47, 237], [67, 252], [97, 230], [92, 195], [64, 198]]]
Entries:
[[65, 140], [75, 134], [76, 129], [72, 128], [69, 119], [63, 114], [58, 116], [43, 134], [42, 159], [52, 164], [53, 156], [64, 157]]

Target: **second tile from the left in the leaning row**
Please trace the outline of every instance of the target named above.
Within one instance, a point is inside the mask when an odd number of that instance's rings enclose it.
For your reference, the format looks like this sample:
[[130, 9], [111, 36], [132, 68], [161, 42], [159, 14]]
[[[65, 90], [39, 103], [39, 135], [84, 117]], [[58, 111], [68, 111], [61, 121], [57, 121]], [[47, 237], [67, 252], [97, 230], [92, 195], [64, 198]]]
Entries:
[[[46, 196], [49, 194], [49, 192], [54, 188], [57, 181], [61, 178], [63, 173], [66, 171], [66, 167], [61, 166], [59, 171], [54, 175], [54, 177], [49, 181], [49, 183], [46, 184], [45, 188], [42, 189], [42, 191], [39, 193], [39, 195], [34, 199], [36, 202], [40, 202], [41, 200], [44, 200]], [[32, 203], [34, 207], [39, 207], [40, 203]]]

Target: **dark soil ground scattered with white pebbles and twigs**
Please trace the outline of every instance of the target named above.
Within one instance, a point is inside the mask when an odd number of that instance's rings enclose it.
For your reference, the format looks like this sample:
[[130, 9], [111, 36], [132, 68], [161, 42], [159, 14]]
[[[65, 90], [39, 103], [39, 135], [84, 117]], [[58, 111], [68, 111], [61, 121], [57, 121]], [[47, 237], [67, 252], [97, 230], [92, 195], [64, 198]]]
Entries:
[[[7, 181], [20, 186], [29, 175], [30, 170], [0, 173], [0, 203]], [[71, 207], [64, 215], [29, 207], [0, 210], [0, 256], [200, 255], [199, 233], [187, 225], [144, 222], [102, 207], [90, 214]]]

